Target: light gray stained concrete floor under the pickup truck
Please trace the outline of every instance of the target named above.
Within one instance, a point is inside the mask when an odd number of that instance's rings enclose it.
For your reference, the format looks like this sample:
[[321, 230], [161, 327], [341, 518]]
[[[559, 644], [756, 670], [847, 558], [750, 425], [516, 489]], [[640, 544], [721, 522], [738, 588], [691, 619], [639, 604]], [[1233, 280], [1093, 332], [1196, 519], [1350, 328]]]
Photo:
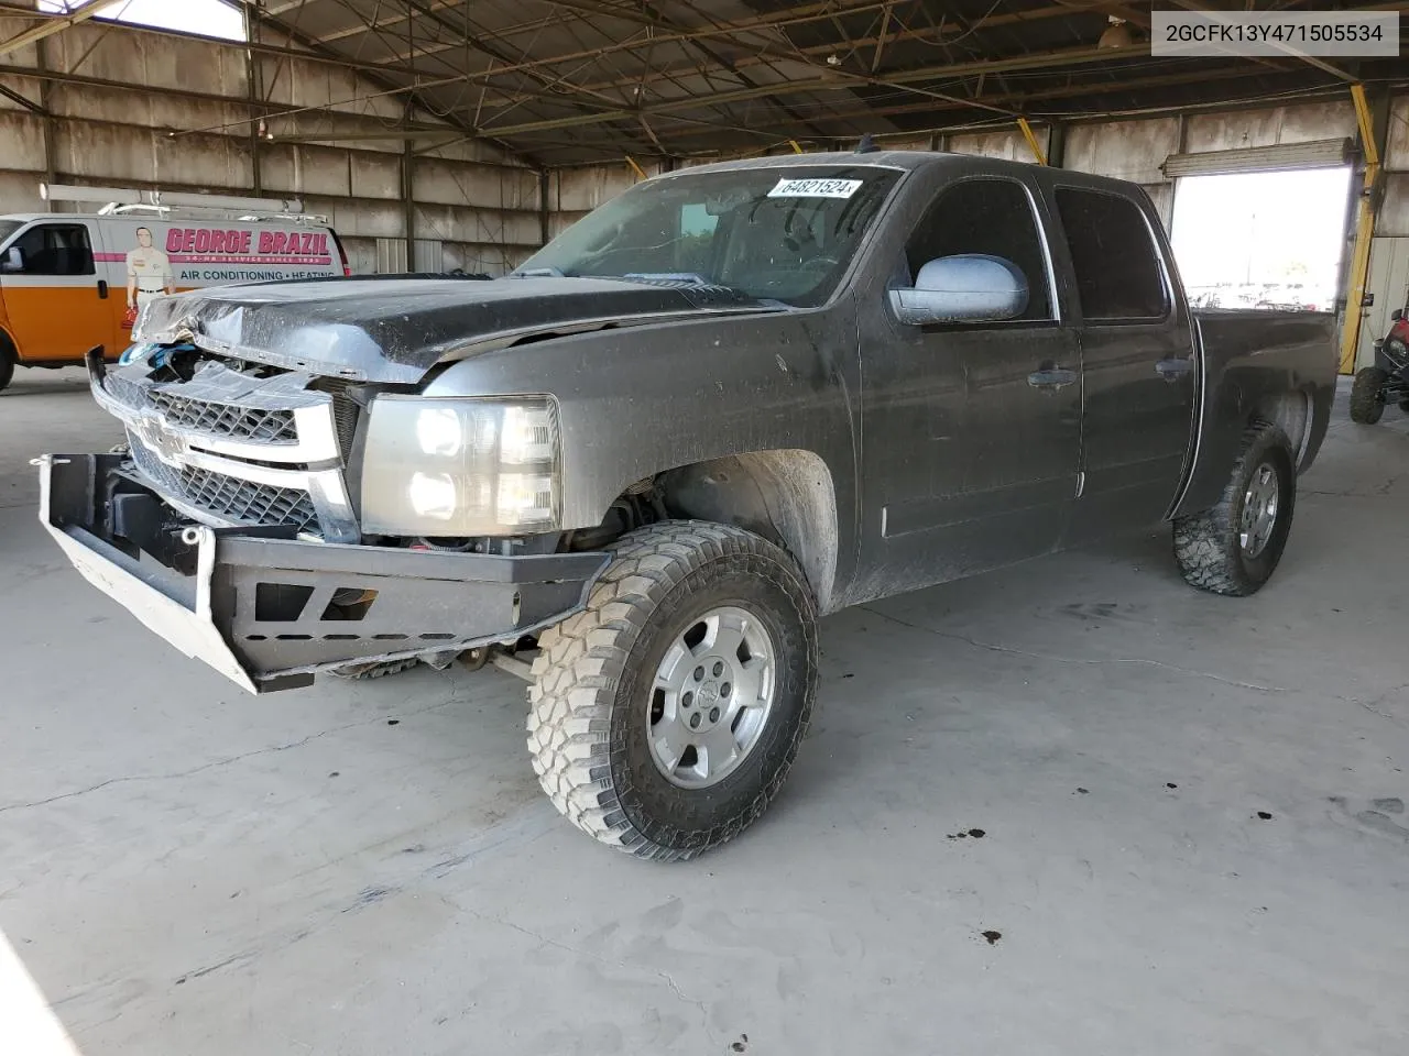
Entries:
[[788, 788], [688, 866], [558, 819], [509, 676], [254, 698], [89, 589], [27, 465], [117, 439], [72, 372], [0, 438], [0, 931], [87, 1056], [1409, 1043], [1395, 410], [1255, 598], [1161, 534], [830, 618]]

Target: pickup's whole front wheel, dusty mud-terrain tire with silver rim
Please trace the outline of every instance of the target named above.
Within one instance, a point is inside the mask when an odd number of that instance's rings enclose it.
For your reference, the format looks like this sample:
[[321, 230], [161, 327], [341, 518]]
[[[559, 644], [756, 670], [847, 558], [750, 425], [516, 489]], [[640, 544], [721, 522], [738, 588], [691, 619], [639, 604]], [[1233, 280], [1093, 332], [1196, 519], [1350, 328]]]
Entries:
[[538, 648], [538, 780], [573, 825], [638, 857], [689, 859], [757, 821], [817, 691], [817, 612], [796, 563], [700, 521], [624, 536], [586, 610]]

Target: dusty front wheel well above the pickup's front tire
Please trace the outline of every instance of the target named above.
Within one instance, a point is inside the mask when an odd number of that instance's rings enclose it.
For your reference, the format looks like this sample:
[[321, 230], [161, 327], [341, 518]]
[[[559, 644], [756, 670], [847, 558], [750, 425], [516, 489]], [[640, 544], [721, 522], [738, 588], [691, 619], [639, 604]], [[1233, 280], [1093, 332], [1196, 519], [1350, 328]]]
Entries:
[[810, 451], [754, 451], [696, 462], [655, 480], [675, 517], [733, 524], [788, 551], [817, 607], [830, 610], [837, 574], [837, 496], [827, 463]]

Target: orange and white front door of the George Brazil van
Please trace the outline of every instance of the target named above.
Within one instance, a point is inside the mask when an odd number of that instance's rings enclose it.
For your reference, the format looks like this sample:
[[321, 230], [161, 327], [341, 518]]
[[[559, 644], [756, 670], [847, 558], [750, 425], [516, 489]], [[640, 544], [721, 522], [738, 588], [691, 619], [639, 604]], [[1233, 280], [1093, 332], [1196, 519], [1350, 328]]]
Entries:
[[93, 262], [94, 228], [82, 220], [41, 221], [0, 253], [0, 287], [20, 362], [76, 363], [111, 341], [111, 297]]

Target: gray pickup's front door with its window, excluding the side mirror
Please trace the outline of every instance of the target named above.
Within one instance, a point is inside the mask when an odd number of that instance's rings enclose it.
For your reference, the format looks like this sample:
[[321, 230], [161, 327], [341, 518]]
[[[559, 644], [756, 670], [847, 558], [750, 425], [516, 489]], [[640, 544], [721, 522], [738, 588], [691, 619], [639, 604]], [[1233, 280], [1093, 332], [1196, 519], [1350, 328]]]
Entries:
[[[905, 276], [985, 253], [1027, 277], [1013, 320], [910, 327], [882, 310], [862, 346], [864, 552], [858, 594], [913, 590], [1045, 553], [1076, 494], [1081, 373], [1043, 214], [1017, 179], [950, 182], [905, 246]], [[859, 597], [857, 600], [861, 600]]]

